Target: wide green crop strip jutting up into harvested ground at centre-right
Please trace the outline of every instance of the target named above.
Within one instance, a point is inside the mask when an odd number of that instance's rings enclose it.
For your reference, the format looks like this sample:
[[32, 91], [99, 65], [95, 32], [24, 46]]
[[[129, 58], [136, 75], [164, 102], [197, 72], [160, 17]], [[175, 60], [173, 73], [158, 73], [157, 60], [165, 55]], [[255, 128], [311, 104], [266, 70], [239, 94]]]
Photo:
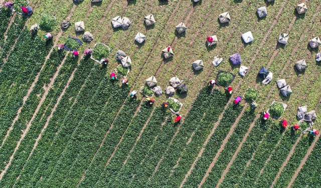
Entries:
[[[210, 134], [213, 124], [223, 112], [228, 99], [229, 98], [225, 94], [217, 89], [214, 89], [211, 94], [207, 92], [207, 88], [200, 91], [200, 94], [193, 103], [192, 109], [189, 111], [188, 115], [185, 117], [184, 123], [181, 125], [181, 130], [174, 139], [173, 144], [170, 145], [168, 151], [166, 151], [166, 153], [162, 150], [153, 151], [159, 153], [160, 156], [158, 156], [158, 158], [164, 155], [164, 160], [160, 163], [158, 171], [150, 179], [148, 187], [161, 187], [164, 184], [167, 184], [169, 187], [179, 186], [179, 183], [182, 182], [185, 174], [193, 164], [194, 159], [197, 157], [207, 135]], [[241, 108], [237, 108], [237, 111], [240, 109]], [[232, 118], [234, 118], [234, 116]], [[217, 132], [220, 136], [222, 136], [221, 134], [224, 134], [225, 131], [229, 131], [227, 124], [221, 128], [222, 129]], [[190, 138], [193, 139], [191, 139], [187, 145], [186, 143]], [[218, 137], [215, 137], [215, 139], [218, 139]], [[171, 140], [171, 138], [169, 138], [169, 140]], [[222, 140], [223, 139], [221, 139], [221, 141]], [[163, 143], [161, 142], [159, 144]], [[219, 143], [217, 145], [215, 144], [215, 148], [218, 145]], [[208, 158], [210, 159], [210, 157]], [[180, 162], [176, 166], [177, 161]], [[156, 165], [157, 161], [152, 161], [152, 163]], [[144, 163], [142, 165], [146, 166], [147, 164], [148, 163]], [[172, 172], [173, 166], [176, 167]], [[145, 178], [148, 179], [148, 176], [143, 176], [143, 181], [141, 182], [138, 182], [141, 180], [140, 178], [136, 178], [134, 179], [133, 184], [136, 187], [141, 187], [139, 185], [142, 185]]]

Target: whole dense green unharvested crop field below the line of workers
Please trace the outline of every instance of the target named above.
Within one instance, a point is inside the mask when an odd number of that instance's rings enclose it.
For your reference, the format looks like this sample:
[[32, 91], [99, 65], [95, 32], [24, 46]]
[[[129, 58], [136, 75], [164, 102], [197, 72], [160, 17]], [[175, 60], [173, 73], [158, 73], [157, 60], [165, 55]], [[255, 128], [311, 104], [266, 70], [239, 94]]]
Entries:
[[[10, 16], [1, 11], [0, 17], [3, 18], [0, 32], [4, 33]], [[22, 130], [31, 119], [33, 121], [0, 181], [1, 187], [176, 187], [204, 147], [183, 186], [196, 187], [201, 182], [243, 106], [229, 105], [224, 110], [229, 97], [216, 89], [211, 93], [205, 87], [194, 100], [184, 122], [174, 124], [169, 111], [127, 97], [129, 89], [108, 80], [105, 75], [110, 70], [90, 59], [74, 59], [54, 49], [45, 63], [52, 44], [23, 30], [25, 22], [22, 17], [16, 17], [6, 39], [1, 38], [0, 43], [0, 138], [4, 140], [0, 147], [0, 169], [9, 162]], [[47, 88], [59, 65], [62, 67], [58, 76], [52, 87]], [[6, 136], [23, 97], [40, 70], [26, 105]], [[71, 75], [73, 78], [66, 87]], [[46, 95], [44, 101], [41, 100], [43, 95]], [[223, 118], [203, 145], [221, 113], [224, 113]], [[275, 186], [284, 187], [289, 183], [313, 138], [300, 137], [290, 129], [282, 130], [278, 122], [263, 122], [255, 116], [255, 112], [245, 110], [204, 187], [218, 183], [253, 121], [254, 127], [242, 143], [221, 187], [235, 184], [268, 187], [299, 139]], [[42, 137], [33, 148], [40, 134]], [[317, 141], [293, 187], [320, 185], [319, 150], [320, 141]]]

